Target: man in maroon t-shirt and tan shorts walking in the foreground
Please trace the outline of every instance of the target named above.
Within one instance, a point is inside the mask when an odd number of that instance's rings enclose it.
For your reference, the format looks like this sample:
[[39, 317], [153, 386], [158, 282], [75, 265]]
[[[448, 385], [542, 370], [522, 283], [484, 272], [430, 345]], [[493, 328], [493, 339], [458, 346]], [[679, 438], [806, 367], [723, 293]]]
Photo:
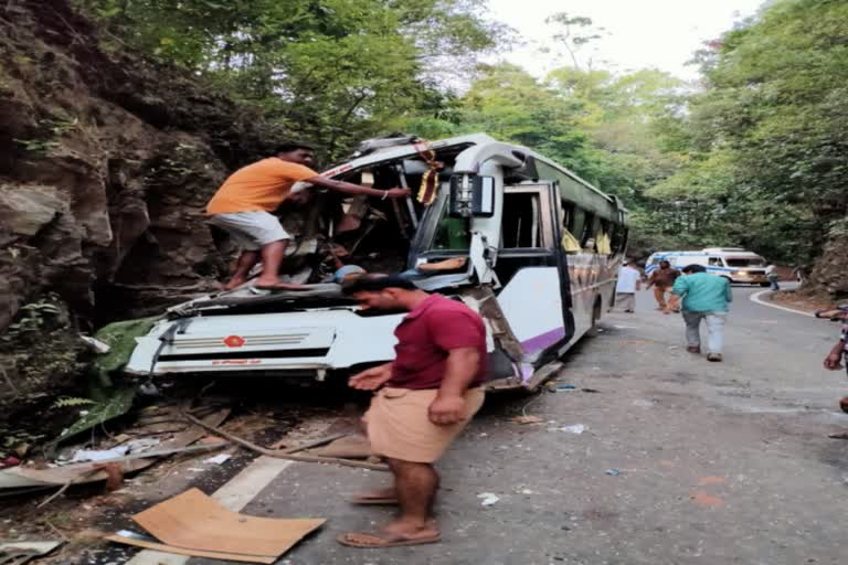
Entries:
[[483, 405], [486, 328], [463, 302], [428, 295], [400, 277], [360, 277], [346, 288], [363, 308], [407, 310], [395, 330], [395, 359], [350, 379], [377, 391], [365, 414], [371, 450], [389, 463], [394, 487], [354, 502], [398, 503], [401, 515], [379, 532], [350, 532], [353, 547], [395, 547], [441, 541], [433, 520], [439, 477], [433, 468]]

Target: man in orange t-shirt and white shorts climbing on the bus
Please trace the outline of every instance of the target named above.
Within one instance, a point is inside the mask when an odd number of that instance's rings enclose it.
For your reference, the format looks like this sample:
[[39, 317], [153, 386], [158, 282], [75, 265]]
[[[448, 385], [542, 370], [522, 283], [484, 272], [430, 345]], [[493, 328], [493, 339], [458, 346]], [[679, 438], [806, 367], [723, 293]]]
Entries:
[[272, 214], [292, 196], [292, 186], [299, 181], [312, 186], [337, 190], [348, 194], [369, 194], [400, 199], [409, 196], [406, 189], [377, 190], [320, 177], [310, 167], [314, 151], [303, 143], [285, 143], [276, 154], [239, 169], [218, 189], [206, 205], [210, 223], [225, 230], [242, 248], [230, 281], [232, 290], [247, 281], [251, 269], [262, 260], [262, 274], [256, 288], [293, 288], [279, 281], [279, 266], [292, 236]]

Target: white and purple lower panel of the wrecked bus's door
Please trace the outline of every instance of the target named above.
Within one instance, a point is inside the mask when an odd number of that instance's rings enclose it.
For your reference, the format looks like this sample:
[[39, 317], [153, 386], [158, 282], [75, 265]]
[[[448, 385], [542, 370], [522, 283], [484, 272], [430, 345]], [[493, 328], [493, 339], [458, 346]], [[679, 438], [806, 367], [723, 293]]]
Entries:
[[526, 267], [498, 295], [498, 303], [528, 361], [571, 338], [565, 334], [561, 291], [556, 267]]

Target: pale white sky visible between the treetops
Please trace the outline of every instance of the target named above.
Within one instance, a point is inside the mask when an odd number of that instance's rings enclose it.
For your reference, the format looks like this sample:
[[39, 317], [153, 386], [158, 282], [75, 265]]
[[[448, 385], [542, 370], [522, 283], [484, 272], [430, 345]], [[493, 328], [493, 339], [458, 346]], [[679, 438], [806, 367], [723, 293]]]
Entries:
[[[524, 45], [499, 55], [538, 76], [570, 64], [553, 53], [554, 30], [544, 19], [554, 12], [584, 15], [604, 28], [603, 38], [579, 52], [581, 64], [591, 57], [593, 67], [616, 72], [658, 68], [683, 79], [698, 77], [686, 65], [695, 51], [717, 39], [733, 23], [752, 15], [763, 0], [489, 0], [490, 17], [518, 31]], [[562, 54], [564, 51], [560, 50]], [[568, 55], [566, 55], [568, 56]]]

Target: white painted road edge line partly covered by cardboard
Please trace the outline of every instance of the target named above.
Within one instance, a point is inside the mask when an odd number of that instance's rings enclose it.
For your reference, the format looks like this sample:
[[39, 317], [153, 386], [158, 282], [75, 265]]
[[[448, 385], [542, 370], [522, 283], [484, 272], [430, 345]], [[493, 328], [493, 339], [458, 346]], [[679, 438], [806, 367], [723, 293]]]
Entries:
[[[212, 498], [235, 512], [246, 507], [280, 472], [295, 461], [262, 456], [212, 494]], [[127, 565], [186, 565], [191, 557], [152, 550], [142, 550]]]

